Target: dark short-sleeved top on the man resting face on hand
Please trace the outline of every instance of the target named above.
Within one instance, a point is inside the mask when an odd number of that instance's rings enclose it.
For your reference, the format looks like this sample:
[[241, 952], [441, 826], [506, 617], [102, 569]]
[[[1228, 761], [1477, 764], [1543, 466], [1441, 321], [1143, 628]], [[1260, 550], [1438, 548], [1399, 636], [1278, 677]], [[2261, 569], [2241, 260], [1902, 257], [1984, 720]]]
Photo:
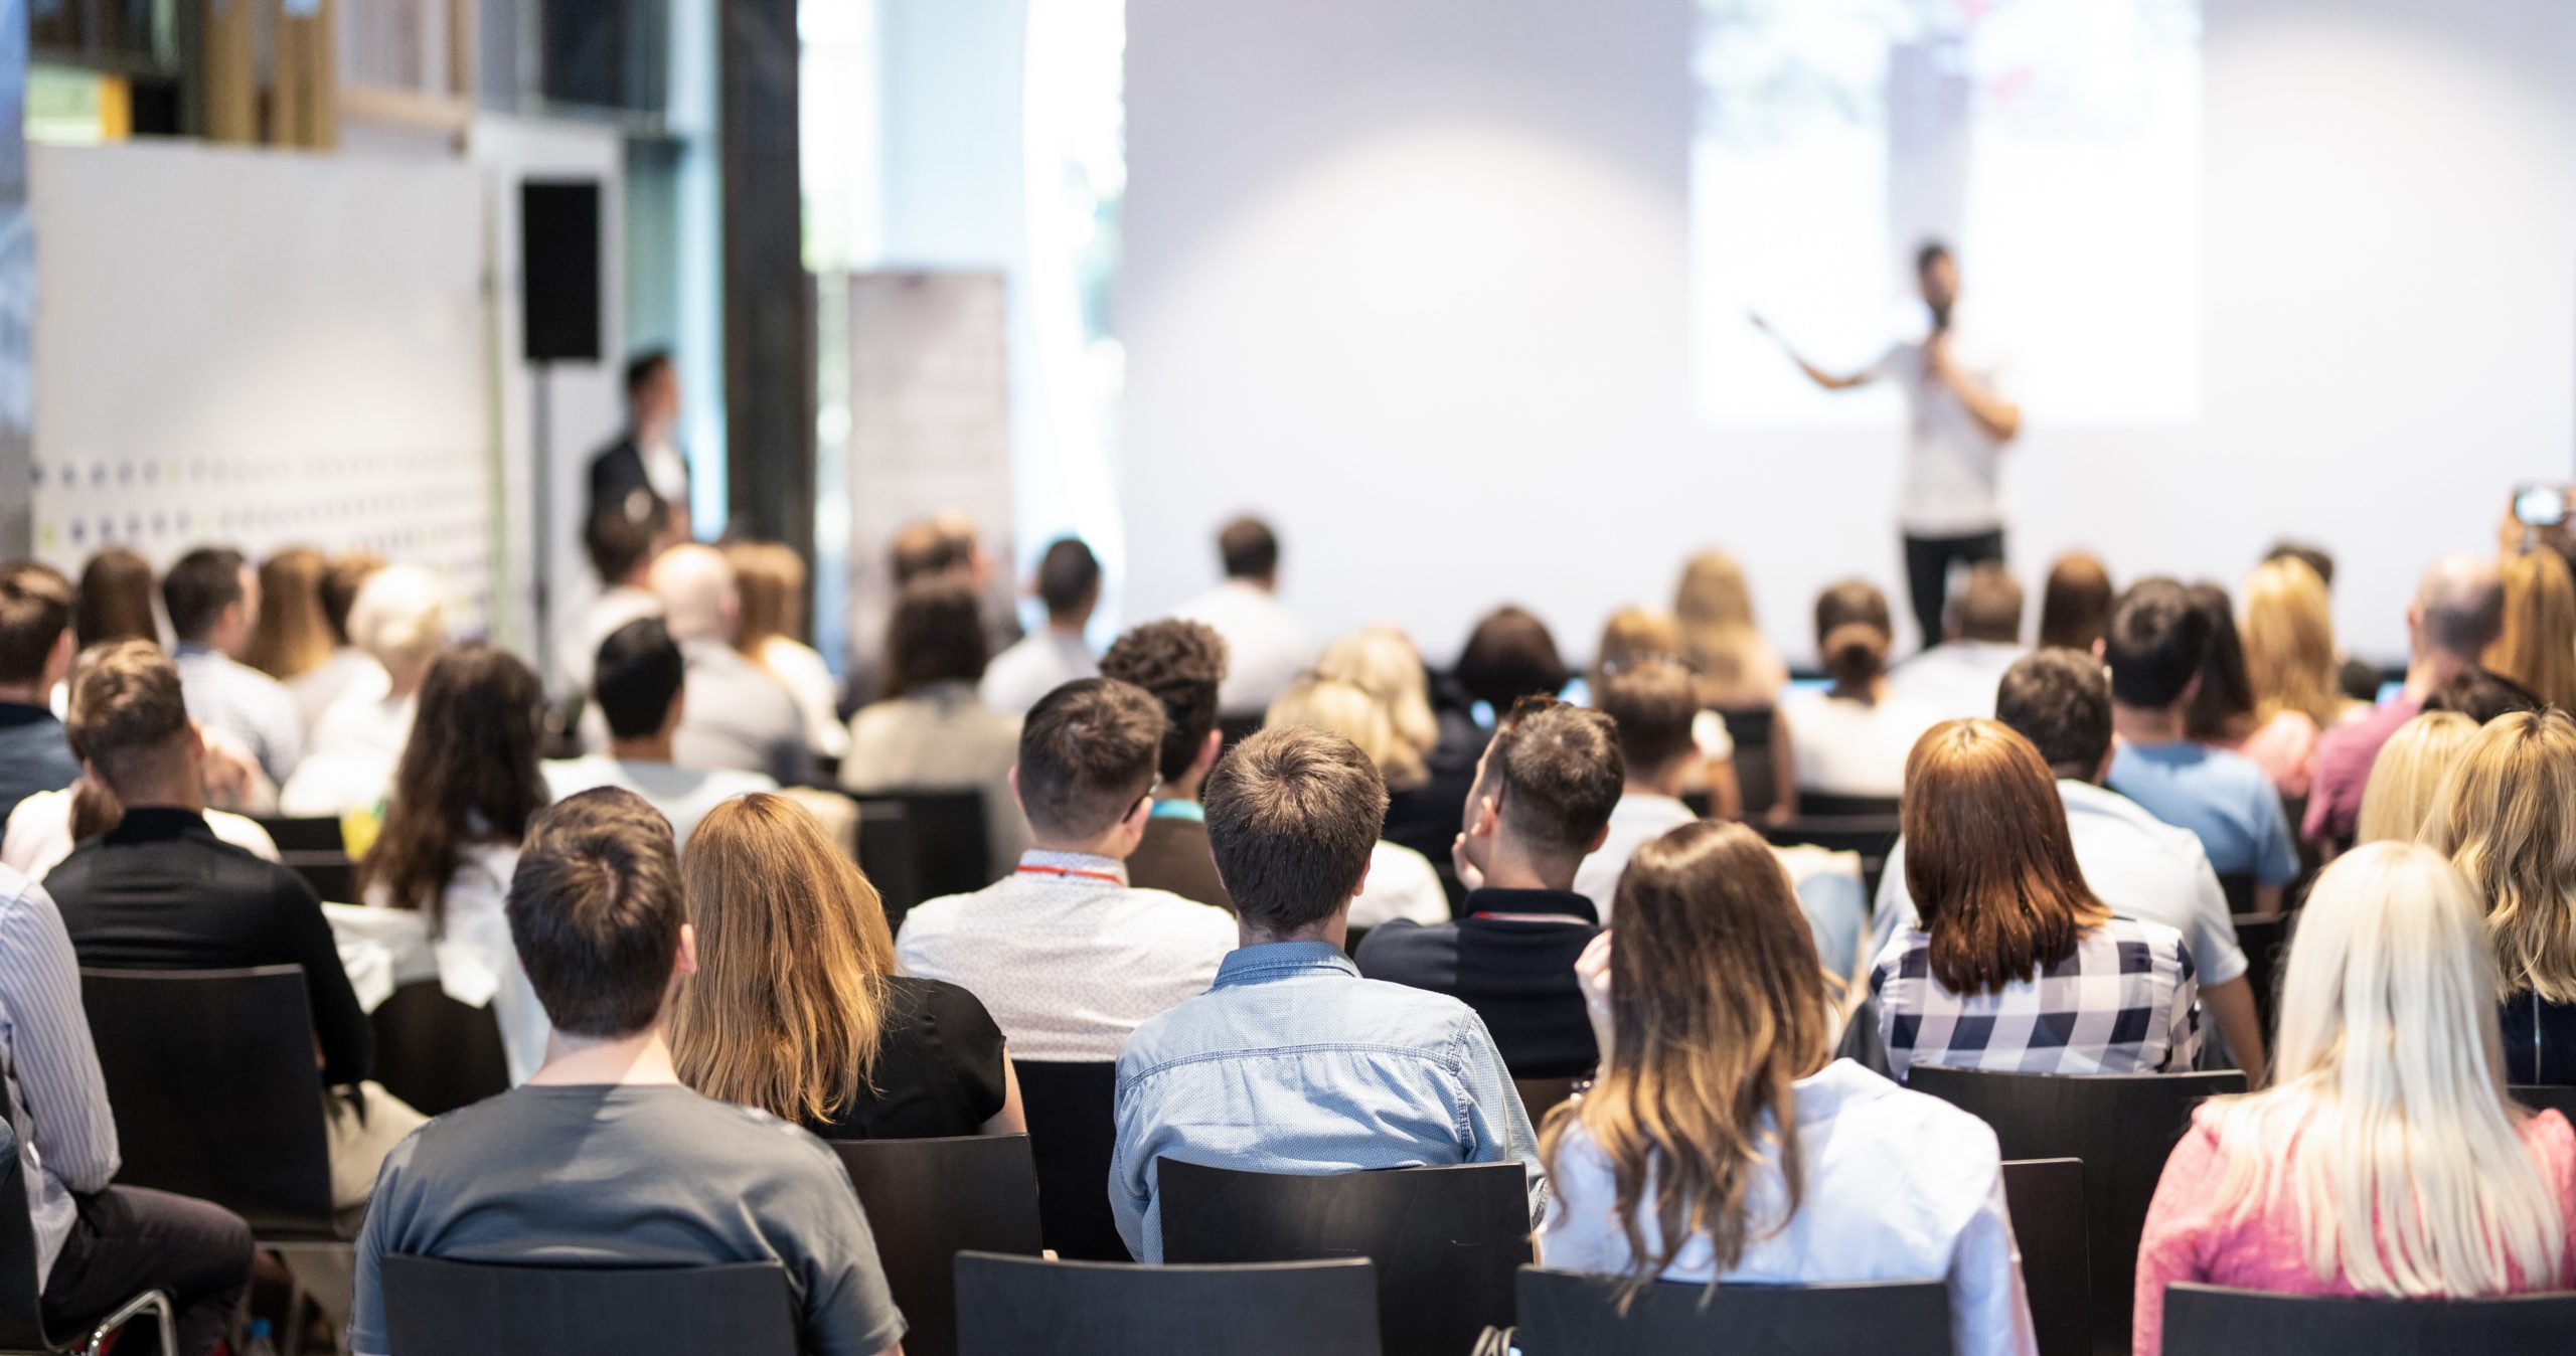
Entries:
[[[1360, 975], [1463, 998], [1512, 1078], [1579, 1078], [1600, 1063], [1574, 957], [1600, 934], [1571, 890], [1473, 890], [1455, 924], [1391, 921], [1360, 942]], [[1582, 919], [1538, 919], [1561, 913]]]

